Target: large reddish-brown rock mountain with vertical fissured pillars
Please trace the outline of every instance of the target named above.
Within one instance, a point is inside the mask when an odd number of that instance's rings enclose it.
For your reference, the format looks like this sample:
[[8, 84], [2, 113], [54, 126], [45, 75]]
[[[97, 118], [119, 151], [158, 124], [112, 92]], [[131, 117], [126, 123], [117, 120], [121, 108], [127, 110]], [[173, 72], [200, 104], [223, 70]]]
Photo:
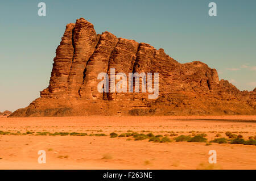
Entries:
[[[67, 25], [56, 49], [49, 86], [41, 98], [12, 113], [16, 116], [77, 115], [256, 115], [256, 89], [240, 91], [218, 79], [216, 69], [200, 61], [180, 64], [149, 44], [104, 32], [96, 35], [83, 18]], [[159, 73], [159, 96], [152, 93], [100, 93], [99, 73]], [[140, 78], [141, 80], [141, 78]], [[128, 78], [127, 78], [128, 81]], [[140, 82], [140, 86], [141, 86]], [[127, 82], [128, 85], [128, 82]], [[134, 89], [133, 85], [133, 90]]]

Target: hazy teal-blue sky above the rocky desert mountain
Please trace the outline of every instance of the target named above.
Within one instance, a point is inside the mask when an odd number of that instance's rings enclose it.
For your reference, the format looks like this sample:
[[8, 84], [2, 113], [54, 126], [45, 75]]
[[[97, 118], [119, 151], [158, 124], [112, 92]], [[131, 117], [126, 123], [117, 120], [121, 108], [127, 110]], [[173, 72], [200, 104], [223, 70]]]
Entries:
[[[38, 3], [46, 16], [38, 16]], [[209, 2], [217, 16], [208, 15]], [[0, 111], [26, 107], [49, 84], [67, 23], [83, 17], [97, 33], [164, 48], [184, 63], [203, 61], [240, 90], [256, 87], [255, 0], [1, 1]]]

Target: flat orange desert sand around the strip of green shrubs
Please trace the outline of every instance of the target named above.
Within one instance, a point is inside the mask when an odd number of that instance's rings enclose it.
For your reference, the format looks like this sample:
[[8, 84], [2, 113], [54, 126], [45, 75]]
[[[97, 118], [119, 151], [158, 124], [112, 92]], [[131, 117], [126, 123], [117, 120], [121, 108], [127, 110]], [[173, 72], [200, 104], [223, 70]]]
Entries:
[[[134, 141], [109, 134], [133, 131], [166, 135], [225, 132], [256, 136], [256, 116], [87, 116], [0, 118], [0, 169], [256, 169], [256, 146], [205, 142]], [[31, 132], [26, 134], [26, 132]], [[33, 133], [34, 132], [34, 133]], [[36, 132], [79, 132], [88, 136], [36, 136]], [[22, 134], [24, 133], [24, 134]], [[89, 136], [89, 134], [106, 136]], [[129, 139], [130, 138], [130, 139]], [[127, 140], [128, 139], [128, 140]], [[46, 151], [46, 164], [38, 151]], [[209, 164], [209, 150], [217, 163]]]

